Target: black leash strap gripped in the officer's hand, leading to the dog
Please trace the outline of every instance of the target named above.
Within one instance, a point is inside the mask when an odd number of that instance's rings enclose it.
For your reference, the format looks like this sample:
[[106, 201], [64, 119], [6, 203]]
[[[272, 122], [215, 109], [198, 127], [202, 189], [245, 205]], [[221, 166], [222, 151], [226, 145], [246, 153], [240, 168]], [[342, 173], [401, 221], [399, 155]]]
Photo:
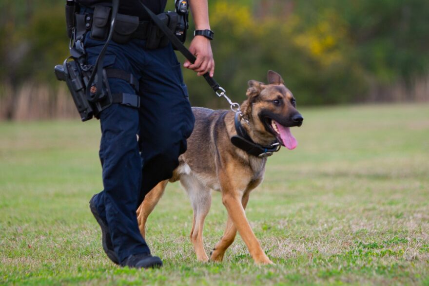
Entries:
[[[141, 0], [140, 4], [149, 14], [151, 19], [155, 22], [156, 26], [167, 36], [167, 38], [171, 41], [172, 45], [179, 51], [183, 56], [185, 56], [191, 63], [195, 63], [196, 57], [182, 44], [182, 42], [173, 34], [173, 32], [167, 27], [167, 25], [162, 22], [154, 12], [152, 12], [148, 7], [143, 4]], [[219, 91], [220, 85], [216, 82], [216, 80], [210, 76], [210, 73], [207, 72], [204, 75], [205, 80], [210, 85], [210, 87], [215, 91]]]

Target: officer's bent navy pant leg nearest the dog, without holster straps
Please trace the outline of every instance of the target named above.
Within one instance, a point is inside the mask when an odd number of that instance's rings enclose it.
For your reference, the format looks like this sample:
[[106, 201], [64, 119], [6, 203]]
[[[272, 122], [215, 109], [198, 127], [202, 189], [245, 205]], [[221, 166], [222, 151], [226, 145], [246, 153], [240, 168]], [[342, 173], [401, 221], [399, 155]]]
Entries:
[[148, 63], [140, 80], [142, 183], [138, 205], [157, 183], [172, 177], [195, 121], [172, 46], [145, 53]]

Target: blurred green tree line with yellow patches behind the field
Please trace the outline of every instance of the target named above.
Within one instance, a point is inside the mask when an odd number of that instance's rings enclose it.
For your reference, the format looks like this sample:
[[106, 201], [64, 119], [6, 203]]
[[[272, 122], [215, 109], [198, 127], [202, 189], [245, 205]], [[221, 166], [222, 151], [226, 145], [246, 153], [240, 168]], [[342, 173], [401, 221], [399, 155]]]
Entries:
[[[168, 8], [172, 10], [173, 0]], [[191, 0], [192, 2], [192, 0]], [[68, 56], [64, 1], [0, 1], [0, 86], [53, 89]], [[210, 0], [216, 80], [236, 101], [247, 81], [279, 72], [300, 104], [412, 100], [428, 84], [428, 0]], [[192, 22], [192, 21], [191, 21]], [[194, 27], [190, 27], [190, 34]], [[192, 37], [188, 37], [189, 40]], [[181, 57], [183, 62], [183, 57]], [[202, 77], [184, 71], [193, 105], [225, 106]], [[427, 99], [428, 89], [420, 89]], [[0, 95], [4, 96], [4, 95]], [[397, 98], [396, 98], [397, 99]], [[13, 101], [13, 99], [12, 99]]]

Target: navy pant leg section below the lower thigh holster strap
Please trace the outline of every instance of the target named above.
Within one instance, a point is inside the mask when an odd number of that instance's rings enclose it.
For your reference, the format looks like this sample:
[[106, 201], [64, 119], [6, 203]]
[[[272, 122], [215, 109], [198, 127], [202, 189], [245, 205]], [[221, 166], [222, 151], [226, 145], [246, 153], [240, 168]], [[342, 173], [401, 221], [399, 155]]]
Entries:
[[138, 111], [114, 104], [100, 114], [100, 122], [104, 191], [98, 206], [105, 209], [115, 252], [123, 262], [131, 254], [150, 253], [136, 216], [141, 184]]

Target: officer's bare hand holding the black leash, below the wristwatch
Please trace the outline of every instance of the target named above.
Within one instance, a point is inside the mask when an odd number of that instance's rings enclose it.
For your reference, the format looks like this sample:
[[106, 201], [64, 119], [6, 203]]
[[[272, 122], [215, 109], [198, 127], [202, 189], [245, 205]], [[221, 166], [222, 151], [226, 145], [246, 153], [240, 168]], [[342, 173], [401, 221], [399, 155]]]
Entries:
[[197, 72], [197, 76], [210, 72], [210, 76], [213, 77], [215, 74], [215, 60], [213, 59], [210, 40], [203, 36], [195, 36], [189, 46], [189, 51], [195, 55], [195, 63], [191, 64], [189, 60], [186, 60], [183, 66]]

